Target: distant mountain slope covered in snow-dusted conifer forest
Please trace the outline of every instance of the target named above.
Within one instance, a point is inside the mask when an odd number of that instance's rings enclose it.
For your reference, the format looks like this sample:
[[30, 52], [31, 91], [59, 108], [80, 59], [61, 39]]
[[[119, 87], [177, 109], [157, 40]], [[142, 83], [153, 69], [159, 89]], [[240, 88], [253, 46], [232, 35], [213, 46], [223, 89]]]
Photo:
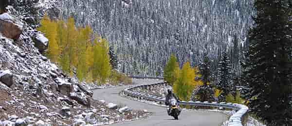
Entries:
[[220, 50], [233, 50], [235, 35], [240, 49], [253, 24], [252, 5], [253, 0], [59, 0], [55, 7], [61, 18], [73, 16], [109, 39], [123, 72], [156, 75], [171, 53], [181, 65], [196, 65], [206, 50], [217, 64]]

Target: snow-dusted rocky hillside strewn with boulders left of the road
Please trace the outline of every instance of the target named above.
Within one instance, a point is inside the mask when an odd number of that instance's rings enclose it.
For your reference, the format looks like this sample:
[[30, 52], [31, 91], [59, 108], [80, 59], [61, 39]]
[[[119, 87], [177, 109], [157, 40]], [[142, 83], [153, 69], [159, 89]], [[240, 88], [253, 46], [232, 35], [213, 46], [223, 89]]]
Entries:
[[94, 101], [42, 54], [48, 43], [15, 16], [0, 15], [0, 126], [101, 125], [146, 115]]

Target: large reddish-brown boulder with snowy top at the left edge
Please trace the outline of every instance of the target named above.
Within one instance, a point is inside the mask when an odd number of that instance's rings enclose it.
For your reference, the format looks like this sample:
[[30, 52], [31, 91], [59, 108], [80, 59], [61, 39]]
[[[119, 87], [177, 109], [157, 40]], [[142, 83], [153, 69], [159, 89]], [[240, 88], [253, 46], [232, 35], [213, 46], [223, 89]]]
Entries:
[[0, 15], [0, 32], [7, 38], [17, 40], [23, 31], [23, 23], [7, 13]]

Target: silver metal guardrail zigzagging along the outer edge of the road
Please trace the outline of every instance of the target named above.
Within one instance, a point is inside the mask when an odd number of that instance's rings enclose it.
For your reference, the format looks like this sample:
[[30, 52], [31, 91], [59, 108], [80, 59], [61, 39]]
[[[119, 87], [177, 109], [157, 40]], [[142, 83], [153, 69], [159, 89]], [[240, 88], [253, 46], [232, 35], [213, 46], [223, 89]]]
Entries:
[[[132, 77], [132, 78], [136, 78], [136, 79], [160, 79], [160, 78], [155, 78], [155, 77]], [[135, 85], [135, 86], [132, 86], [132, 87], [129, 87], [129, 88], [123, 90], [122, 92], [124, 94], [126, 94], [126, 95], [129, 95], [129, 96], [139, 97], [139, 98], [143, 98], [143, 99], [150, 100], [150, 101], [160, 102], [161, 104], [163, 104], [164, 101], [165, 101], [165, 98], [152, 96], [152, 95], [145, 94], [145, 93], [132, 92], [132, 91], [130, 91], [130, 89], [141, 88], [143, 86], [147, 87], [147, 86], [161, 85], [161, 84], [165, 84], [165, 83], [166, 83], [166, 81], [159, 82], [159, 83]], [[218, 102], [208, 102], [208, 101], [205, 101], [205, 102], [201, 102], [201, 101], [180, 101], [179, 104], [181, 104], [181, 105], [192, 105], [192, 106], [227, 108], [227, 109], [236, 110], [236, 113], [234, 113], [229, 118], [228, 126], [242, 126], [241, 118], [248, 111], [248, 107], [247, 106], [241, 105], [241, 104], [236, 104], [236, 103], [225, 103], [225, 102], [218, 103]]]

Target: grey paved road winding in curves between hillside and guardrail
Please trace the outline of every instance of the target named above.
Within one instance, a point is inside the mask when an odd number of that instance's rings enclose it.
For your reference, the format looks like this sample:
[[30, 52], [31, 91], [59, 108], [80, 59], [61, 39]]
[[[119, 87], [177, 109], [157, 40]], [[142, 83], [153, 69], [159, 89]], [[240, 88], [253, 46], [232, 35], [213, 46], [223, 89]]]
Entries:
[[[135, 84], [146, 84], [159, 82], [156, 79], [133, 79]], [[121, 90], [127, 86], [114, 87], [108, 89], [94, 90], [93, 98], [96, 100], [106, 100], [116, 104], [127, 105], [132, 109], [148, 110], [153, 114], [142, 120], [122, 122], [110, 126], [220, 126], [228, 118], [221, 112], [204, 111], [204, 110], [183, 110], [179, 120], [173, 120], [168, 116], [164, 107], [150, 105], [138, 101], [133, 101], [119, 95]]]

